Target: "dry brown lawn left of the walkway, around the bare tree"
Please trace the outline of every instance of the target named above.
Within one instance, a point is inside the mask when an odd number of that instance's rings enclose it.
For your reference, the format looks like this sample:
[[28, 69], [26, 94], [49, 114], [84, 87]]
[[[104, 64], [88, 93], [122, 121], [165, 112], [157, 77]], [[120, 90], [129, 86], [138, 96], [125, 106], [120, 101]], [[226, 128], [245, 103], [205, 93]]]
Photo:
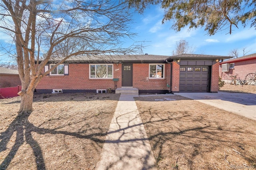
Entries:
[[119, 99], [112, 93], [34, 95], [0, 100], [0, 169], [94, 169]]

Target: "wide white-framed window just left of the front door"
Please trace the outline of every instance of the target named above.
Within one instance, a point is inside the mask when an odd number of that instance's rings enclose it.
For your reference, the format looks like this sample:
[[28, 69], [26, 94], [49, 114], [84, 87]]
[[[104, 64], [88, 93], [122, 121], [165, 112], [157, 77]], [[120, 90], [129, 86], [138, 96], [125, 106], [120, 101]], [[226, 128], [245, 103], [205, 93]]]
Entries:
[[90, 78], [113, 78], [113, 64], [90, 64]]

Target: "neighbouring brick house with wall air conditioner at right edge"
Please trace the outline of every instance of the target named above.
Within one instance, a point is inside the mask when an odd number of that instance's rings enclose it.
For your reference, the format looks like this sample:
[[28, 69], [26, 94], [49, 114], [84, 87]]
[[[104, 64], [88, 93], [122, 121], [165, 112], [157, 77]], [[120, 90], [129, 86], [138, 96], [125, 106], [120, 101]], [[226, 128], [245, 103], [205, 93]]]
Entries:
[[256, 53], [220, 62], [220, 77], [230, 83], [232, 76], [244, 80], [248, 73], [256, 72]]

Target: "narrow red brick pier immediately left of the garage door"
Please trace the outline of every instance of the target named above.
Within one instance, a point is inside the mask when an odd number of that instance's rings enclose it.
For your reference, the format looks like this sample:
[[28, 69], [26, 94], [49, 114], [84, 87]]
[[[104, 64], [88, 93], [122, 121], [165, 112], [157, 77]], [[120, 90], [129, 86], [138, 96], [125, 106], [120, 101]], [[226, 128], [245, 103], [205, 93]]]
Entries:
[[180, 65], [172, 62], [172, 91], [178, 92], [180, 89]]

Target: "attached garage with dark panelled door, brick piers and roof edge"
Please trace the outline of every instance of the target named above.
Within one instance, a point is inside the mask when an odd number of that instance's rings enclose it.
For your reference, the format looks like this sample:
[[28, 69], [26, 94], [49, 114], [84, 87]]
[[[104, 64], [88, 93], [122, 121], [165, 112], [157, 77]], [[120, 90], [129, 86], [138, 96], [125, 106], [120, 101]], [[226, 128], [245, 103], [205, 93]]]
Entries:
[[217, 93], [220, 55], [181, 54], [169, 57], [172, 93]]

